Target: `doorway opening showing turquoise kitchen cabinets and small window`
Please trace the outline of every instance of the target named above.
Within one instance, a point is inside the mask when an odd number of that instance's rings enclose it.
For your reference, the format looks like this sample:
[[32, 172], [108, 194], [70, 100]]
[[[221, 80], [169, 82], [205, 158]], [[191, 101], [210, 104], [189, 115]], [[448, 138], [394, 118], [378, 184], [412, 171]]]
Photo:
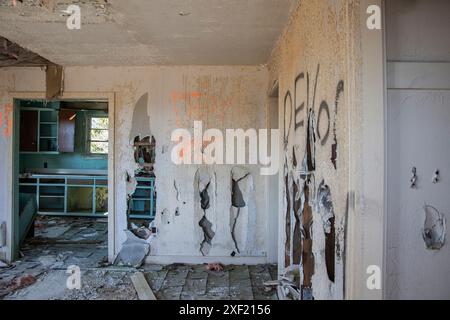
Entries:
[[60, 267], [107, 263], [108, 100], [15, 99], [14, 106], [14, 258], [46, 257], [44, 265]]

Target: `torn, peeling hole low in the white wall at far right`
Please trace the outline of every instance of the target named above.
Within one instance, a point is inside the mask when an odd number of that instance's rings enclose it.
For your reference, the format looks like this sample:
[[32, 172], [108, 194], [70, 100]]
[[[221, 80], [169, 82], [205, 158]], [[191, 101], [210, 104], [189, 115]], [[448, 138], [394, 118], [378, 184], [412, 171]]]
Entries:
[[430, 250], [439, 250], [445, 243], [445, 218], [433, 206], [424, 205], [425, 222], [422, 230], [425, 246]]

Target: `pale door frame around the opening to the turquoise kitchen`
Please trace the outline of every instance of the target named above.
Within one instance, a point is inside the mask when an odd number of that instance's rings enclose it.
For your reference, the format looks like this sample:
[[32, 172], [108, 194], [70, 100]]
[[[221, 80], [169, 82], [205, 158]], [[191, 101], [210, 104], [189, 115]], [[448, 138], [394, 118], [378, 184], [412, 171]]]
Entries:
[[[8, 161], [11, 163], [11, 170], [7, 180], [7, 193], [11, 194], [9, 197], [10, 203], [7, 207], [10, 208], [7, 213], [7, 242], [8, 252], [7, 260], [13, 261], [18, 252], [18, 181], [16, 171], [18, 171], [16, 159], [19, 151], [19, 108], [16, 106], [16, 100], [19, 99], [36, 99], [45, 100], [45, 92], [31, 92], [31, 91], [14, 91], [8, 93], [10, 103], [13, 106], [13, 134], [12, 140], [8, 150]], [[116, 256], [115, 242], [116, 242], [116, 208], [115, 208], [115, 93], [114, 92], [65, 92], [58, 100], [102, 100], [108, 102], [108, 122], [109, 122], [109, 137], [108, 137], [108, 261], [112, 262]]]

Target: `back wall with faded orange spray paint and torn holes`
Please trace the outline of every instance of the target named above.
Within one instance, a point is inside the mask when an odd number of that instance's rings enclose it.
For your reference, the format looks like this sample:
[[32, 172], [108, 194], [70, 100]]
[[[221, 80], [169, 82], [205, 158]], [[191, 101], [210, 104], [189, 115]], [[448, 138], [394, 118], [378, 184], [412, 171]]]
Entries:
[[[151, 241], [151, 257], [165, 262], [223, 261], [264, 263], [268, 261], [268, 212], [265, 201], [266, 177], [260, 175], [259, 165], [242, 165], [252, 178], [253, 206], [241, 227], [239, 236], [245, 248], [236, 251], [231, 236], [231, 170], [233, 165], [180, 165], [171, 161], [174, 129], [186, 128], [192, 133], [194, 120], [203, 122], [203, 132], [266, 127], [266, 97], [268, 73], [266, 67], [67, 67], [65, 92], [115, 93], [115, 201], [116, 253], [125, 241], [127, 174], [136, 169], [130, 132], [156, 139], [156, 219], [157, 236]], [[9, 92], [45, 91], [45, 72], [39, 68], [6, 68], [0, 71], [0, 112], [4, 115], [12, 102]], [[138, 100], [148, 94], [148, 121], [133, 123]], [[145, 116], [145, 115], [144, 115]], [[2, 160], [0, 165], [0, 222], [11, 212], [11, 137], [5, 135], [3, 117], [0, 134]], [[142, 120], [142, 119], [141, 119]], [[147, 126], [145, 126], [147, 123]], [[131, 138], [131, 139], [130, 139]], [[215, 192], [213, 218], [215, 236], [207, 256], [200, 245], [203, 232], [195, 214], [194, 177], [200, 168], [214, 176]], [[250, 186], [250, 184], [249, 184]], [[10, 245], [10, 244], [8, 244]], [[2, 248], [6, 252], [7, 248]]]

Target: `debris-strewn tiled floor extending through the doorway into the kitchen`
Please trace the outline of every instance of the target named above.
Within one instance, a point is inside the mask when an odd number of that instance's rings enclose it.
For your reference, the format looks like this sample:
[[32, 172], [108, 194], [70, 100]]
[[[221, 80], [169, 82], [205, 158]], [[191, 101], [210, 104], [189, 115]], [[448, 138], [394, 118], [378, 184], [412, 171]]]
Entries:
[[[44, 217], [36, 226], [20, 261], [0, 269], [0, 299], [137, 299], [130, 280], [137, 271], [158, 299], [277, 299], [276, 290], [263, 285], [276, 279], [276, 265], [229, 265], [223, 271], [206, 265], [109, 266], [105, 219]], [[70, 265], [81, 270], [79, 290], [67, 289]], [[36, 281], [18, 289], [17, 280], [28, 275]]]

